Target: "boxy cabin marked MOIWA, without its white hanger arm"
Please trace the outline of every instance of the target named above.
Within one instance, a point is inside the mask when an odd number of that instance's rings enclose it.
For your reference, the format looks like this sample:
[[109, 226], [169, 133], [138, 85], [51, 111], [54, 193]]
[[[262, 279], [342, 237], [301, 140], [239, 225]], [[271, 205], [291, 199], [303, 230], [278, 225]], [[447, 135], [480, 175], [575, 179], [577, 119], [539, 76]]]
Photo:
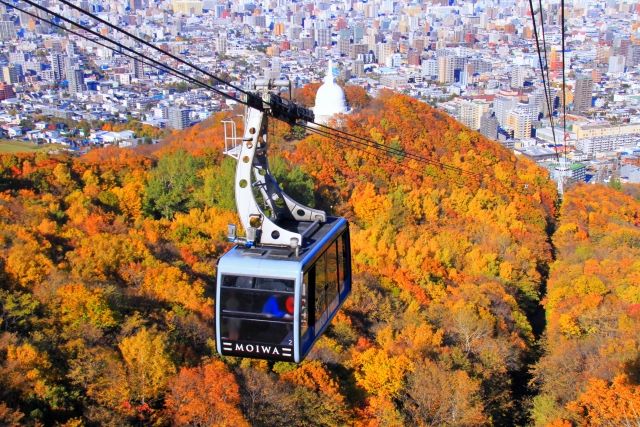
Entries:
[[[304, 225], [304, 223], [303, 223]], [[218, 352], [302, 361], [351, 291], [349, 228], [328, 218], [291, 248], [236, 246], [218, 263]]]

